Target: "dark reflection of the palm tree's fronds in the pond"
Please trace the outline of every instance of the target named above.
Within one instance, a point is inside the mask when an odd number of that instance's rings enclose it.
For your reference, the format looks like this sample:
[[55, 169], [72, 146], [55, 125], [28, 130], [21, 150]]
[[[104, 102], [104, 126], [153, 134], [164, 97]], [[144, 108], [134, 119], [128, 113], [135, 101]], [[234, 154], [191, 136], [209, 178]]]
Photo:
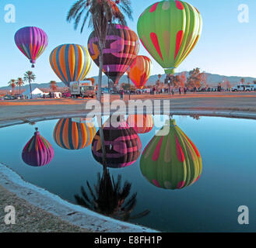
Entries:
[[97, 184], [94, 185], [94, 191], [88, 181], [86, 184], [92, 198], [89, 198], [84, 187], [81, 187], [82, 197], [75, 195], [77, 204], [82, 205], [83, 207], [89, 208], [102, 215], [107, 215], [114, 219], [121, 219], [124, 221], [141, 218], [149, 214], [149, 210], [146, 210], [138, 215], [131, 216], [137, 203], [137, 193], [128, 198], [132, 184], [125, 181], [124, 186], [121, 188], [121, 175], [118, 175], [117, 181], [115, 181], [114, 177], [110, 177], [109, 171], [103, 169], [102, 177], [100, 177], [100, 173], [98, 174], [98, 180]]

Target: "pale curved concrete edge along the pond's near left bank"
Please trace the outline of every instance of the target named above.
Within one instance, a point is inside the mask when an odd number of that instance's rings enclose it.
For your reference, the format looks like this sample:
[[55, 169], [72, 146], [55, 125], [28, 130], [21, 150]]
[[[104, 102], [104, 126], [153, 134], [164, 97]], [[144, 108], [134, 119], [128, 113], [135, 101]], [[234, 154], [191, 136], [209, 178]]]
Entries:
[[24, 181], [19, 174], [2, 163], [0, 163], [0, 184], [31, 205], [91, 232], [157, 232], [143, 226], [111, 219], [66, 202], [58, 195]]

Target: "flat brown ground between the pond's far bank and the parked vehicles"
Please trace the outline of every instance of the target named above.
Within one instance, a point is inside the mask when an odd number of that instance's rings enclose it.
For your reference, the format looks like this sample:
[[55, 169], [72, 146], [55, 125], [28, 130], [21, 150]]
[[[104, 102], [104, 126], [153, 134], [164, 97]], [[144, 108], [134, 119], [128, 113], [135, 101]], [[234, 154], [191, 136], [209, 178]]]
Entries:
[[[169, 99], [170, 110], [228, 110], [256, 112], [256, 92], [222, 92], [222, 93], [189, 93], [188, 95], [132, 95], [137, 99]], [[119, 99], [111, 97], [111, 102]], [[26, 119], [47, 115], [75, 114], [86, 112], [89, 99], [38, 99], [0, 102], [0, 122], [6, 120]], [[124, 97], [128, 101], [128, 96]]]

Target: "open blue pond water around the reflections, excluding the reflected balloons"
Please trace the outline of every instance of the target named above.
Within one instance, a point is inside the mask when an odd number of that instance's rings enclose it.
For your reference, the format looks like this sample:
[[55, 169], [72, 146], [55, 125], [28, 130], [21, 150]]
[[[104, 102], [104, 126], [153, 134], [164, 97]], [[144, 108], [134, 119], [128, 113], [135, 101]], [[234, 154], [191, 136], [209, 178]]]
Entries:
[[[124, 196], [126, 202], [132, 195], [137, 194], [132, 201], [134, 208], [130, 205], [131, 216], [141, 212], [146, 213], [142, 218], [128, 221], [163, 232], [255, 232], [255, 121], [219, 117], [195, 119], [190, 116], [173, 116], [173, 119], [200, 152], [202, 175], [195, 184], [178, 190], [156, 187], [143, 176], [140, 167], [142, 151], [164, 123], [163, 119], [160, 121], [160, 116], [153, 116], [155, 123], [153, 129], [151, 131], [146, 129], [145, 132], [148, 133], [139, 133], [142, 147], [139, 155], [137, 154], [138, 159], [135, 156], [137, 159], [135, 163], [127, 167], [109, 168], [109, 175], [114, 177], [114, 181], [117, 181], [118, 175], [121, 175], [121, 188], [124, 188], [125, 181], [131, 186], [130, 190], [126, 188], [128, 191], [128, 196], [125, 195], [126, 198]], [[93, 157], [90, 143], [93, 137], [89, 140], [89, 145], [87, 143], [88, 146], [80, 150], [71, 150], [70, 147], [64, 149], [63, 146], [59, 146], [57, 143], [61, 141], [56, 137], [54, 139], [54, 128], [58, 121], [0, 129], [0, 162], [8, 164], [26, 181], [77, 204], [75, 195], [82, 197], [81, 186], [85, 188], [89, 198], [92, 198], [86, 181], [94, 190], [97, 174], [100, 173], [102, 176], [103, 166]], [[79, 122], [77, 119], [73, 121]], [[33, 136], [35, 127], [38, 127], [40, 134], [51, 143], [54, 150], [51, 163], [43, 167], [31, 167], [22, 159], [23, 148]], [[60, 129], [59, 132], [65, 131]], [[57, 133], [57, 136], [60, 135]], [[88, 139], [89, 137], [87, 141]], [[79, 146], [81, 147], [81, 143]], [[110, 184], [107, 184], [106, 178], [105, 183], [105, 186], [100, 188], [100, 204], [101, 208], [105, 208], [107, 201], [106, 208], [111, 208], [110, 195], [107, 195]], [[118, 202], [117, 199], [113, 198], [112, 202], [115, 211], [121, 209], [118, 208], [118, 203], [120, 206], [122, 202]], [[121, 195], [119, 199], [122, 199]], [[239, 215], [237, 209], [240, 205], [247, 205], [250, 209], [249, 226], [240, 226], [237, 222]]]

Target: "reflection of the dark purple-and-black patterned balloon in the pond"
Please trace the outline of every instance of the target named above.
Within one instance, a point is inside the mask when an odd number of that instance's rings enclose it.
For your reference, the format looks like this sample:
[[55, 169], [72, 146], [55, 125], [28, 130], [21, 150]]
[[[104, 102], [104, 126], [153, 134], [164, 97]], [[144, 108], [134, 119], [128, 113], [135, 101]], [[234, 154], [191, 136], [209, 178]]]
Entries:
[[128, 167], [139, 159], [142, 151], [142, 143], [135, 129], [128, 126], [124, 117], [119, 123], [110, 123], [110, 119], [103, 125], [104, 146], [106, 154], [100, 142], [100, 130], [96, 133], [92, 143], [93, 157], [100, 164], [106, 160], [107, 167]]

